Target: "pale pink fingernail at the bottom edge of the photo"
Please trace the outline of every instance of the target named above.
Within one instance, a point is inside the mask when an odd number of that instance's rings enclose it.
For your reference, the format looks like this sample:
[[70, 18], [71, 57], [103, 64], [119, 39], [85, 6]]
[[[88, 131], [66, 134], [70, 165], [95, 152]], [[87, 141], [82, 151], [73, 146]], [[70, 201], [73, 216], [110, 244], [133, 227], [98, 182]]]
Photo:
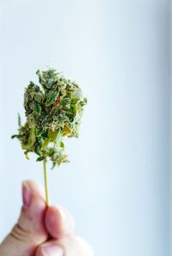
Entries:
[[63, 256], [63, 250], [58, 245], [41, 246], [41, 253], [44, 256]]

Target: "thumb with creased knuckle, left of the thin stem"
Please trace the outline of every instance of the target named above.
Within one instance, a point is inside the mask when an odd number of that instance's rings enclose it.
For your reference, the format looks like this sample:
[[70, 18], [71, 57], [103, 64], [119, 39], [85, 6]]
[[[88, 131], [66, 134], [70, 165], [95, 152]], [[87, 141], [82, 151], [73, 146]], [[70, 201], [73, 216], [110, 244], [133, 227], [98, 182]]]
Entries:
[[22, 201], [19, 220], [0, 245], [1, 256], [34, 255], [36, 247], [47, 239], [44, 227], [46, 202], [41, 186], [34, 181], [23, 182]]

